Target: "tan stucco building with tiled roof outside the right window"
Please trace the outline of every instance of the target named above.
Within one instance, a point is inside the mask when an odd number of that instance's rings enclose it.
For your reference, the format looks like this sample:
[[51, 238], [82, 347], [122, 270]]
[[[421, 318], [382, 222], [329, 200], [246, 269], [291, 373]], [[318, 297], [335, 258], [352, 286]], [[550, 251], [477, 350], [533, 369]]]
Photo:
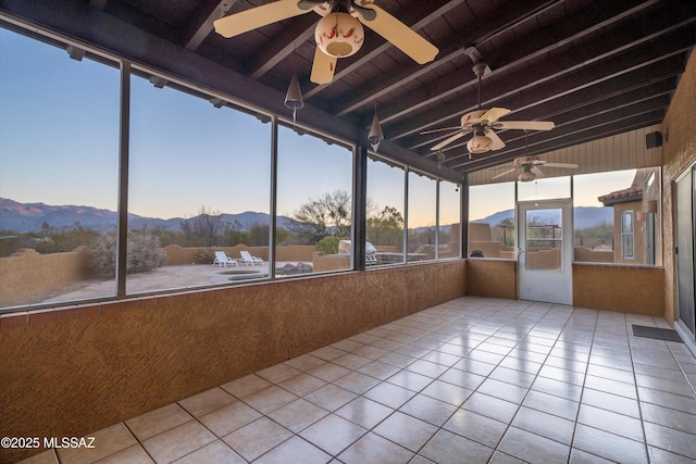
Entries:
[[658, 168], [637, 170], [631, 187], [597, 198], [605, 206], [613, 206], [614, 263], [656, 264], [658, 183]]

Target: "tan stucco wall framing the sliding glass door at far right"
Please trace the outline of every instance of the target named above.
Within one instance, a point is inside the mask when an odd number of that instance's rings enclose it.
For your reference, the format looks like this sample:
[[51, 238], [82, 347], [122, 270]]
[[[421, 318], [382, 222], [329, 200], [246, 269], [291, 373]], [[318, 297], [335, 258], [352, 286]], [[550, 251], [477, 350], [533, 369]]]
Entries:
[[673, 181], [696, 161], [696, 53], [692, 52], [662, 123], [662, 230], [664, 243], [664, 317], [674, 322], [675, 260]]

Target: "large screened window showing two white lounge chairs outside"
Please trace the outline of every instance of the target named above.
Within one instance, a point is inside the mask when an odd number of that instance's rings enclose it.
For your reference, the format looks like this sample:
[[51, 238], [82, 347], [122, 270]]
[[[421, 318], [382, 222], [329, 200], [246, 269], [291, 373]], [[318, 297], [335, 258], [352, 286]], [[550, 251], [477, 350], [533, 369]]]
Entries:
[[126, 291], [266, 278], [271, 124], [149, 75], [130, 80]]

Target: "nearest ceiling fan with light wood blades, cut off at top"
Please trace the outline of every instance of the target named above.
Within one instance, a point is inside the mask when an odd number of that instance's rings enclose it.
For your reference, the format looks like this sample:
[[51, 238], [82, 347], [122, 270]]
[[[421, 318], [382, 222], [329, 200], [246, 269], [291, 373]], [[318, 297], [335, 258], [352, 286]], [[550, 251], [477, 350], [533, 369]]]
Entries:
[[431, 62], [439, 50], [372, 0], [277, 0], [213, 22], [225, 38], [314, 11], [323, 16], [314, 29], [316, 51], [310, 80], [334, 78], [336, 59], [356, 53], [364, 40], [364, 24], [419, 64]]

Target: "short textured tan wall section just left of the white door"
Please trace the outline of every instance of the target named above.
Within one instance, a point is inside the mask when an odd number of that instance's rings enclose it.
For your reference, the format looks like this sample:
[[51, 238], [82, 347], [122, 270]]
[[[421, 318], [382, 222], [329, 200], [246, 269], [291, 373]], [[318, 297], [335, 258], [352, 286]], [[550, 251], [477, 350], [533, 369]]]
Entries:
[[518, 298], [517, 261], [467, 260], [468, 293], [475, 297]]

